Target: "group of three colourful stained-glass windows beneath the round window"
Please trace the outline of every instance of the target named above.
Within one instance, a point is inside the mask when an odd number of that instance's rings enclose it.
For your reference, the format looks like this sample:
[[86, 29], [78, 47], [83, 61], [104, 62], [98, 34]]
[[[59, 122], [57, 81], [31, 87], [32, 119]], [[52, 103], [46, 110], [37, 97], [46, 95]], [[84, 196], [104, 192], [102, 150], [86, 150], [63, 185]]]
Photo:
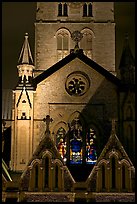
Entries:
[[56, 134], [56, 146], [67, 164], [92, 164], [97, 161], [96, 132], [93, 128], [85, 130], [85, 126], [79, 117], [74, 117], [66, 132], [61, 126]]

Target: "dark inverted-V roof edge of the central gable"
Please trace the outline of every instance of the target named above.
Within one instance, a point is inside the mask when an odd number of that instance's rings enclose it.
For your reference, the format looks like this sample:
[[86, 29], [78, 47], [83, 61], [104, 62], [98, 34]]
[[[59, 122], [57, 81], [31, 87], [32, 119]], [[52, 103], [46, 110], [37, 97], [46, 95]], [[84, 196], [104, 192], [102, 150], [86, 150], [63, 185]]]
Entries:
[[41, 81], [43, 81], [44, 79], [52, 75], [54, 72], [58, 71], [63, 66], [65, 66], [66, 64], [68, 64], [69, 62], [76, 58], [80, 59], [82, 62], [90, 66], [92, 69], [102, 74], [106, 79], [110, 80], [112, 83], [118, 86], [120, 85], [120, 80], [117, 77], [115, 77], [113, 74], [111, 74], [109, 71], [104, 69], [102, 66], [100, 66], [93, 60], [89, 59], [86, 55], [83, 54], [83, 50], [79, 49], [76, 52], [71, 51], [68, 56], [66, 56], [61, 61], [57, 62], [49, 69], [45, 70], [43, 73], [34, 78], [33, 79], [34, 86], [37, 86], [38, 83], [40, 83]]

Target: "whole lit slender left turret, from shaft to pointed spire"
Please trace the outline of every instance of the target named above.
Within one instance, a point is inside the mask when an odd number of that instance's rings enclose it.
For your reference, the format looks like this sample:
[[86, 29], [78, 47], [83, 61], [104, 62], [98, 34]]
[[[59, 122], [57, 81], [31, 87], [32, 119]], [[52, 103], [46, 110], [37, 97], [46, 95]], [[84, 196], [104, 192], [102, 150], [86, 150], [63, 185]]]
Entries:
[[33, 59], [28, 34], [18, 61], [19, 81], [13, 90], [11, 169], [24, 170], [33, 148]]

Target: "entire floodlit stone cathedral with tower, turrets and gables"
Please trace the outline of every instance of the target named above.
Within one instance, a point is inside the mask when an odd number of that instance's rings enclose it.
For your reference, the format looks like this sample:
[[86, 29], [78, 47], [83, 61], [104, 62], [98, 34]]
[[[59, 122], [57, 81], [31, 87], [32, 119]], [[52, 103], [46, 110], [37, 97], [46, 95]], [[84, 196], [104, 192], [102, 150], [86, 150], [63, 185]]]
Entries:
[[135, 63], [126, 36], [116, 70], [114, 2], [36, 4], [3, 120], [2, 201], [135, 202]]

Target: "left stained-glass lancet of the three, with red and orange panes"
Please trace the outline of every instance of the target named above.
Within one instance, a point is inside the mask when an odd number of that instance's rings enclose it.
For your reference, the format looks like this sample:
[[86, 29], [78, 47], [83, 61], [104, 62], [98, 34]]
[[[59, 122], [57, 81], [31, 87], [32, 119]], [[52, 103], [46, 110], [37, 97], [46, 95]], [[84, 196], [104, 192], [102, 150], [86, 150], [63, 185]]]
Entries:
[[63, 127], [60, 127], [56, 135], [56, 146], [64, 162], [66, 162], [67, 160], [67, 157], [66, 157], [66, 142], [67, 141], [66, 141], [65, 135], [66, 135], [66, 131], [64, 130]]

